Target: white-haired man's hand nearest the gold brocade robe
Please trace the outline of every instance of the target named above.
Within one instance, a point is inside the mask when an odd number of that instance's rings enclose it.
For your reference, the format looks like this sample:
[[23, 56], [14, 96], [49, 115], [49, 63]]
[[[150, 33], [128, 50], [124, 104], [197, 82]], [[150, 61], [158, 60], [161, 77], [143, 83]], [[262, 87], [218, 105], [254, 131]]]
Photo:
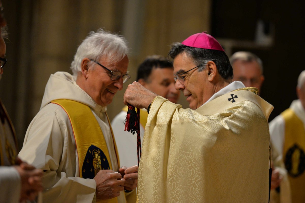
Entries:
[[119, 169], [119, 173], [122, 174], [122, 177], [125, 179], [124, 189], [133, 190], [138, 185], [138, 166], [132, 166], [127, 168], [123, 166]]

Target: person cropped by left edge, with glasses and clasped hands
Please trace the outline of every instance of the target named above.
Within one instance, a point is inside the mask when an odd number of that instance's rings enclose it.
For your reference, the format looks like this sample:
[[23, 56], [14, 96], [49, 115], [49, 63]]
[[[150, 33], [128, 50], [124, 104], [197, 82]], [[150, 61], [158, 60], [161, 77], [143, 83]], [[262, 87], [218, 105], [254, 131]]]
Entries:
[[[6, 45], [3, 37], [7, 37], [6, 21], [0, 1], [0, 79], [7, 62]], [[0, 87], [0, 90], [5, 90]], [[17, 157], [18, 147], [14, 126], [9, 119], [0, 100], [0, 203], [16, 203], [34, 200], [42, 191], [42, 171], [23, 162]], [[40, 201], [39, 201], [40, 202]]]

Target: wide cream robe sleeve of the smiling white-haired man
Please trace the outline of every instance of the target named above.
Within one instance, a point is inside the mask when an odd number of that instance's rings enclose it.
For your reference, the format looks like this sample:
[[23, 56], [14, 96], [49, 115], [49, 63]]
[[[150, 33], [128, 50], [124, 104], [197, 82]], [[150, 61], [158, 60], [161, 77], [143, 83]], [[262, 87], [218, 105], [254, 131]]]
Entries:
[[[54, 107], [55, 104], [50, 105]], [[78, 167], [75, 145], [71, 141], [70, 123], [67, 124], [65, 112], [61, 114], [62, 111], [41, 110], [35, 116], [27, 130], [19, 157], [44, 171], [44, 203], [91, 203], [96, 183], [94, 179], [75, 177]]]

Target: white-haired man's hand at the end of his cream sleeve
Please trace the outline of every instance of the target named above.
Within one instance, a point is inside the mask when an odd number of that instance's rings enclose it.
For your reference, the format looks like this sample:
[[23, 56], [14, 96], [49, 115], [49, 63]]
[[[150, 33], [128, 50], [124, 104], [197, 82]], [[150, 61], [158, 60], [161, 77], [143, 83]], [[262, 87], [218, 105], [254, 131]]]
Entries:
[[96, 199], [111, 199], [124, 190], [125, 180], [122, 175], [113, 170], [100, 170], [93, 178], [96, 182]]

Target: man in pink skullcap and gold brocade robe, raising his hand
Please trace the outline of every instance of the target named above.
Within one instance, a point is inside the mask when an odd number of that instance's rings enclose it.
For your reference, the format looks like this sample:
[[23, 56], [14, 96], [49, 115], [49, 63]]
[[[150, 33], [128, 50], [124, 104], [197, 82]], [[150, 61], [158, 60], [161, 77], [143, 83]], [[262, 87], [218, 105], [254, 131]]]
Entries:
[[206, 33], [174, 43], [175, 88], [189, 108], [128, 85], [124, 103], [149, 112], [138, 202], [268, 202], [268, 117], [257, 88], [232, 82], [221, 45]]

